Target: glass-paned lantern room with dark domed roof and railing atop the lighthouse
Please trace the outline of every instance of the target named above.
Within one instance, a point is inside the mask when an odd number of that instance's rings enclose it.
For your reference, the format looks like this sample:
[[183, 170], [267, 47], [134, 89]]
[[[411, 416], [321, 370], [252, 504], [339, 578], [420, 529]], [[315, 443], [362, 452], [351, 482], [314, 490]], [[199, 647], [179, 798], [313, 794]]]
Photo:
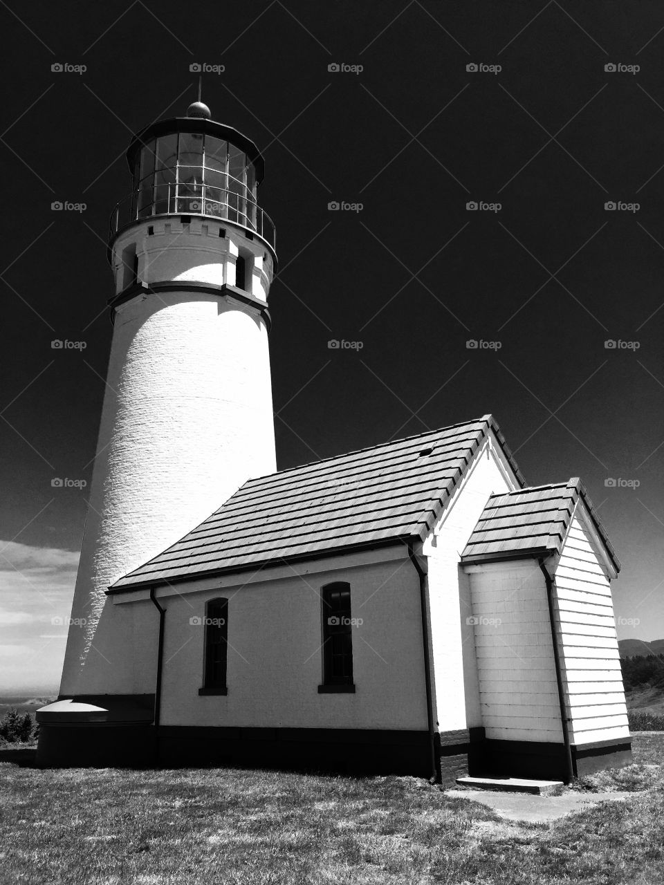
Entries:
[[207, 105], [194, 102], [186, 117], [143, 129], [127, 163], [133, 188], [112, 212], [111, 241], [152, 216], [203, 215], [258, 235], [274, 255], [274, 224], [257, 201], [263, 158], [251, 139], [212, 120]]

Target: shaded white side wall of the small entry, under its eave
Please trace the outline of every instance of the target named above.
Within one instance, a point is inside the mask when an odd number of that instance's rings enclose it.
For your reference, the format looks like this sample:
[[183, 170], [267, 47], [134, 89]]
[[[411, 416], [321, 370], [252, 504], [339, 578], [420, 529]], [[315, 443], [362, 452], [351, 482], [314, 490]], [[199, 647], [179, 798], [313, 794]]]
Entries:
[[469, 578], [487, 737], [561, 743], [551, 622], [540, 569], [528, 561], [492, 563]]

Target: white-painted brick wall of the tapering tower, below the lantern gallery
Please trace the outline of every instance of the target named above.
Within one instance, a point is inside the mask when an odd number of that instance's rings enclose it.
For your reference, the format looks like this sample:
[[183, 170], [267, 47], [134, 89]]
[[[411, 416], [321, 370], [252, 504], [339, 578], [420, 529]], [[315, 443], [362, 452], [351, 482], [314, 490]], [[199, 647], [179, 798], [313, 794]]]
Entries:
[[[158, 237], [147, 227], [129, 232], [151, 242], [139, 253], [139, 275], [147, 267], [150, 281], [169, 273], [175, 281], [223, 281], [201, 234], [181, 231], [177, 247], [169, 235], [158, 258]], [[105, 590], [244, 481], [275, 469], [267, 333], [257, 312], [184, 292], [120, 304], [73, 597], [72, 618], [85, 623], [70, 629], [61, 693], [153, 690], [151, 669], [142, 666], [152, 643], [143, 635], [135, 642], [131, 621], [116, 617]]]

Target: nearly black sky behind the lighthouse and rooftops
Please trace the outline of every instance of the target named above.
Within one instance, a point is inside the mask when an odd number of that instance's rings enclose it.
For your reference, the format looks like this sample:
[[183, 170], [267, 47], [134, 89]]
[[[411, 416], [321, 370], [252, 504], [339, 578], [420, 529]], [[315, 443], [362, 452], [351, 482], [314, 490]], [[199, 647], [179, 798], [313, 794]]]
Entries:
[[192, 62], [225, 65], [203, 97], [263, 150], [277, 227], [279, 466], [493, 412], [529, 483], [586, 483], [623, 562], [619, 635], [664, 635], [660, 3], [13, 0], [0, 19], [2, 540], [80, 546], [85, 493], [50, 481], [90, 479], [124, 151], [185, 113]]

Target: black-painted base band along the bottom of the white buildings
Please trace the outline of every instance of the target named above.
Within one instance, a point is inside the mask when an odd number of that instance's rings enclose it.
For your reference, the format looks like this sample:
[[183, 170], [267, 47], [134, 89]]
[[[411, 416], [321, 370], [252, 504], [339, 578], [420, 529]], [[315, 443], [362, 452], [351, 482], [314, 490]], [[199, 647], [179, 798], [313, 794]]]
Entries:
[[[437, 732], [435, 750], [437, 780], [445, 786], [468, 773], [557, 781], [564, 780], [567, 773], [562, 743], [491, 740], [485, 738], [483, 728]], [[632, 760], [631, 739], [573, 744], [572, 757], [576, 776], [626, 766]], [[136, 721], [42, 723], [37, 762], [54, 767], [237, 766], [422, 778], [431, 773], [425, 728], [155, 728], [150, 722]]]

